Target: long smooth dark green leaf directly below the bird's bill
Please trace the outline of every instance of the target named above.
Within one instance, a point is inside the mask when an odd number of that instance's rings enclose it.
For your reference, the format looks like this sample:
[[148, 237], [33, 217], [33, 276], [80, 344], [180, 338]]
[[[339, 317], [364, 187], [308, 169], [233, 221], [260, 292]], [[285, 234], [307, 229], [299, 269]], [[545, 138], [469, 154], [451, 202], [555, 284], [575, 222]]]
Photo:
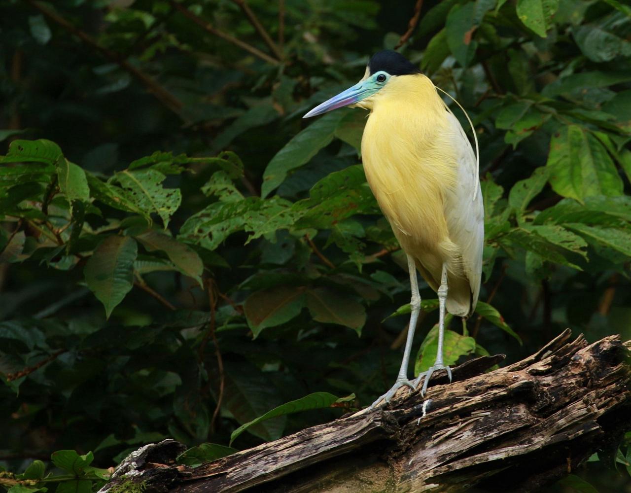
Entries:
[[269, 162], [263, 173], [261, 197], [267, 197], [287, 176], [288, 172], [309, 162], [319, 150], [333, 141], [344, 111], [333, 111], [317, 119], [286, 143]]

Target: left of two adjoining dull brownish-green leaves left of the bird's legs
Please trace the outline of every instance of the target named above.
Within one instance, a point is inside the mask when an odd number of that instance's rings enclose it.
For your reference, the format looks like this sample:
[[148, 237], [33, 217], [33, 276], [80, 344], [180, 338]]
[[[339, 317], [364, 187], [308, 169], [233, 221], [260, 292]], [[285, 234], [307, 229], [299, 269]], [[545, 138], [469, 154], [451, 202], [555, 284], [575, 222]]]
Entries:
[[264, 328], [290, 321], [304, 307], [304, 287], [278, 286], [247, 297], [244, 303], [247, 324], [256, 338]]

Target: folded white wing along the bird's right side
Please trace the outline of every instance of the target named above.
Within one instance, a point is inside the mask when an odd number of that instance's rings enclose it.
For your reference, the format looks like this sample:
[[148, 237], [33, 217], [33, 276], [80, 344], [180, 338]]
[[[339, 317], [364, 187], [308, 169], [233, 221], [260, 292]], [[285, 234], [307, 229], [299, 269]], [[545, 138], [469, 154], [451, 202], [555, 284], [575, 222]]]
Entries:
[[[471, 143], [451, 111], [447, 119], [452, 126], [452, 146], [456, 151], [458, 168], [456, 189], [445, 198], [445, 218], [447, 218], [449, 237], [459, 248], [463, 263], [462, 273], [466, 276], [470, 287], [469, 306], [452, 306], [449, 311], [454, 314], [466, 312], [470, 315], [475, 309], [480, 294], [484, 247], [484, 205], [480, 191], [478, 161]], [[451, 288], [450, 285], [449, 295], [451, 295]], [[456, 304], [456, 299], [462, 300], [463, 297], [454, 297], [452, 304]], [[449, 304], [449, 299], [447, 302]]]

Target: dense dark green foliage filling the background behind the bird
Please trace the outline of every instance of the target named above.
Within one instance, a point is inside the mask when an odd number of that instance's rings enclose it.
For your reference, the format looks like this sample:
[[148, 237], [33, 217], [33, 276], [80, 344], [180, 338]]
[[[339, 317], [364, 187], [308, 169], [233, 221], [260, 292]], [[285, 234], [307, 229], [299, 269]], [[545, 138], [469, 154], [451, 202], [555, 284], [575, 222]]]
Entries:
[[[164, 437], [196, 465], [389, 388], [410, 294], [360, 164], [366, 114], [300, 117], [414, 4], [251, 0], [270, 47], [232, 1], [0, 0], [0, 486], [88, 492], [93, 461]], [[566, 326], [631, 338], [630, 36], [615, 0], [423, 3], [402, 52], [475, 123], [485, 201], [450, 363]], [[417, 373], [436, 345], [421, 288]], [[587, 479], [623, 490], [605, 457]]]

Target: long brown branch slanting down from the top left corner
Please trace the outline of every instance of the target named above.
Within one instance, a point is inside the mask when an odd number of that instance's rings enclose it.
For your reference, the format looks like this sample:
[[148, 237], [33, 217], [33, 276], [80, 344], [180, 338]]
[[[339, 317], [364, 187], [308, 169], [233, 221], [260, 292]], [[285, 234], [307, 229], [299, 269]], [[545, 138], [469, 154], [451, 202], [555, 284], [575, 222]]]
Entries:
[[25, 0], [25, 2], [32, 6], [34, 9], [40, 11], [50, 21], [59, 24], [68, 32], [74, 34], [84, 44], [88, 45], [88, 47], [90, 47], [91, 49], [99, 52], [104, 58], [117, 63], [124, 71], [136, 78], [136, 80], [138, 80], [146, 89], [148, 89], [149, 92], [158, 99], [158, 101], [165, 105], [165, 107], [172, 110], [172, 112], [177, 114], [177, 116], [183, 118], [181, 114], [182, 102], [180, 102], [179, 99], [177, 99], [174, 95], [172, 95], [155, 80], [153, 80], [153, 78], [133, 66], [127, 60], [122, 59], [119, 54], [99, 45], [95, 40], [90, 37], [90, 35], [81, 31], [79, 28], [74, 27], [74, 25], [72, 25], [68, 20], [64, 19], [56, 12], [45, 7], [43, 4], [37, 3], [35, 0]]

